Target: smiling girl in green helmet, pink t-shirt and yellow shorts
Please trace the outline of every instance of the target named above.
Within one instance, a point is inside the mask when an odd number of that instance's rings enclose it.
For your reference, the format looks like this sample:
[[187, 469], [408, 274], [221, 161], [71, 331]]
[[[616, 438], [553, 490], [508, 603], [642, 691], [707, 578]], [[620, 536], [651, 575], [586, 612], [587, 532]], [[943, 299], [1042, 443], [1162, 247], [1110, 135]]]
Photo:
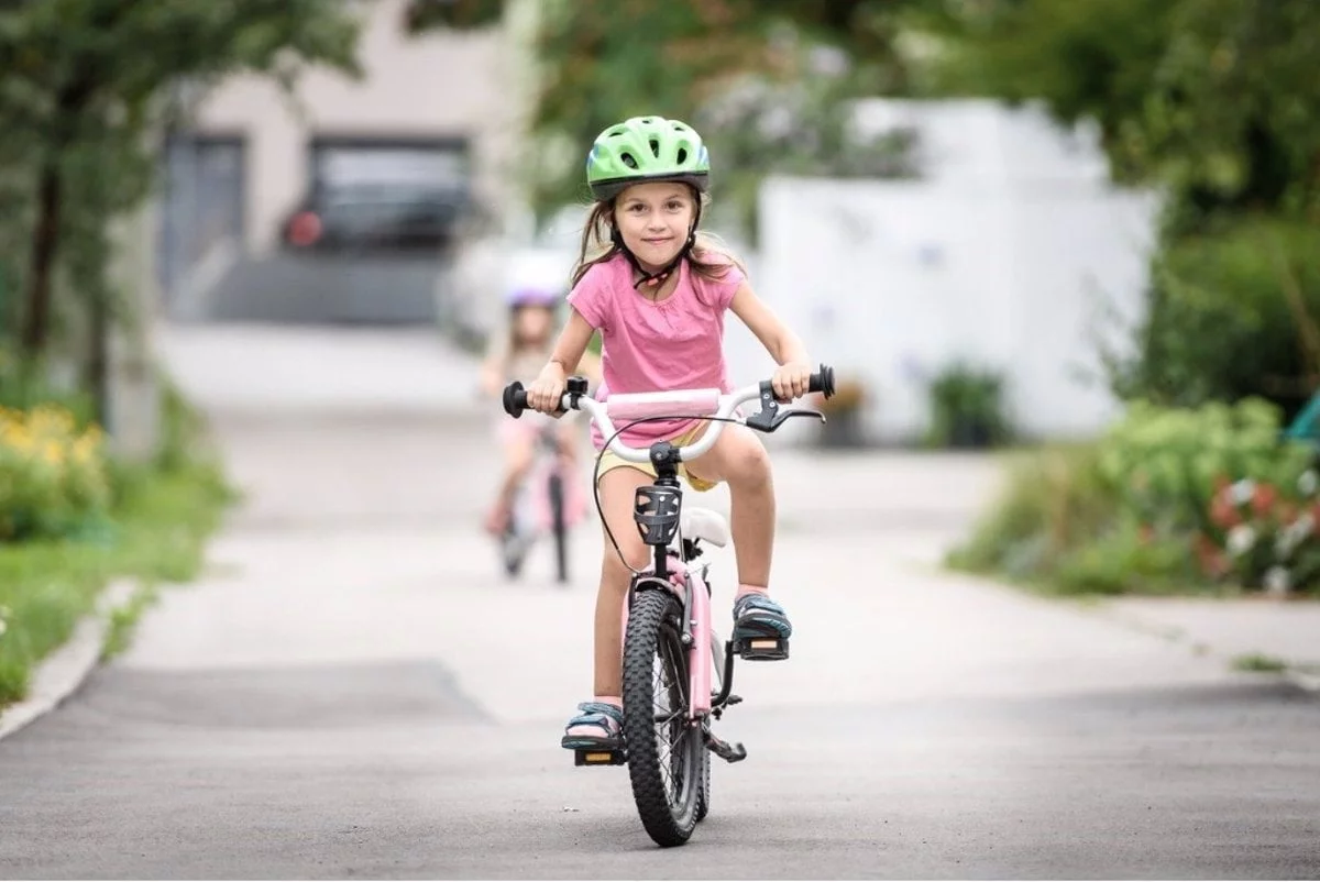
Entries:
[[[709, 173], [701, 136], [677, 120], [632, 118], [595, 139], [586, 177], [597, 201], [573, 273], [572, 312], [549, 360], [527, 391], [529, 407], [556, 411], [566, 378], [594, 331], [603, 341], [598, 400], [610, 392], [715, 387], [729, 392], [726, 312], [742, 320], [779, 364], [772, 384], [780, 400], [807, 393], [812, 367], [801, 341], [756, 297], [739, 261], [697, 231]], [[622, 441], [635, 448], [659, 440], [685, 445], [700, 438], [708, 425], [704, 420], [648, 421], [626, 429]], [[591, 441], [597, 450], [606, 442], [595, 425]], [[792, 626], [767, 590], [775, 491], [760, 440], [746, 426], [729, 425], [715, 445], [681, 466], [680, 474], [697, 491], [729, 483], [739, 582], [734, 639], [787, 639]], [[606, 545], [595, 606], [594, 698], [578, 705], [579, 713], [569, 720], [561, 743], [570, 750], [615, 750], [622, 745], [623, 602], [632, 570], [649, 565], [649, 552], [634, 526], [634, 499], [653, 478], [649, 466], [626, 462], [610, 450], [602, 456], [601, 510], [623, 560]]]

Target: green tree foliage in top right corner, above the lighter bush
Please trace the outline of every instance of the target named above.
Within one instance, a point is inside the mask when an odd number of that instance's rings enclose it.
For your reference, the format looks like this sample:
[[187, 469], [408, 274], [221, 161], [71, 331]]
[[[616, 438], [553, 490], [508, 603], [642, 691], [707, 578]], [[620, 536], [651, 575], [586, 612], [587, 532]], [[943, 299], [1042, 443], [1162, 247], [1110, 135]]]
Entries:
[[1171, 222], [1320, 210], [1320, 4], [978, 0], [936, 21], [944, 92], [1039, 99], [1100, 124], [1115, 180], [1172, 195]]

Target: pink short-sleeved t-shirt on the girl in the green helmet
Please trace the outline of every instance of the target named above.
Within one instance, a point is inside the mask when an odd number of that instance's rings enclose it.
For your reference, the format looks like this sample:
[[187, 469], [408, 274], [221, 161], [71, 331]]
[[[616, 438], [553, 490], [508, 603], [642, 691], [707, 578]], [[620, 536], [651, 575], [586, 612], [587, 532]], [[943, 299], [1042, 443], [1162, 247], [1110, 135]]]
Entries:
[[[591, 267], [568, 300], [601, 331], [602, 382], [597, 400], [606, 400], [611, 391], [733, 391], [725, 364], [725, 312], [742, 283], [737, 264], [729, 263], [723, 279], [710, 281], [692, 272], [684, 260], [673, 293], [652, 302], [632, 288], [632, 267], [623, 255]], [[698, 420], [639, 423], [619, 440], [631, 448], [647, 448], [697, 424]], [[591, 442], [598, 450], [605, 445], [594, 420]]]

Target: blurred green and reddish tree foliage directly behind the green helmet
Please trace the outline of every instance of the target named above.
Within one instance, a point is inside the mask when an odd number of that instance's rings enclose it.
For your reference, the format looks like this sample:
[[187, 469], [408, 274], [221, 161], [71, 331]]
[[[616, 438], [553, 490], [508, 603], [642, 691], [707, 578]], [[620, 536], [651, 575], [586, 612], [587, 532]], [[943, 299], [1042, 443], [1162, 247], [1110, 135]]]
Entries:
[[[767, 172], [898, 174], [906, 143], [849, 140], [845, 102], [903, 92], [903, 9], [929, 0], [546, 0], [525, 186], [544, 215], [589, 198], [581, 165], [607, 125], [661, 114], [697, 125], [718, 157], [718, 202], [750, 223]], [[418, 28], [488, 26], [500, 0], [417, 0]], [[822, 54], [832, 46], [833, 55]]]

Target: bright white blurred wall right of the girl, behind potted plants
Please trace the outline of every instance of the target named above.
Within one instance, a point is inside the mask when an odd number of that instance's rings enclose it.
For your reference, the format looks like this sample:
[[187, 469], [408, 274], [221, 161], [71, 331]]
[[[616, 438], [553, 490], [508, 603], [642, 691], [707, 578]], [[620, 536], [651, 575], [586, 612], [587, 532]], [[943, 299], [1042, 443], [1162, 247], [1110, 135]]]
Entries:
[[1140, 314], [1152, 197], [1110, 187], [1088, 133], [1032, 110], [870, 100], [858, 123], [916, 127], [925, 177], [767, 181], [758, 288], [814, 359], [863, 379], [875, 440], [920, 434], [924, 379], [956, 358], [1006, 372], [1028, 433], [1102, 428], [1115, 403], [1076, 372], [1098, 368], [1097, 297]]

